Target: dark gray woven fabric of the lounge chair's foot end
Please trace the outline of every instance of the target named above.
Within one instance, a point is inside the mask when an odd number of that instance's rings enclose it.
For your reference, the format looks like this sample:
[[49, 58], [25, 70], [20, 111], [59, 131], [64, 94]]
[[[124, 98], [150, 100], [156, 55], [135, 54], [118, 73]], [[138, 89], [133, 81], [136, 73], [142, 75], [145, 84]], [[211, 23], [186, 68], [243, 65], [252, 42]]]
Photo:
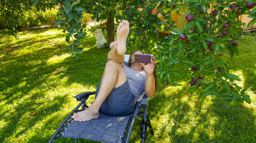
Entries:
[[62, 132], [62, 138], [83, 138], [100, 142], [122, 142], [130, 117], [99, 115], [96, 120], [89, 122], [70, 122]]

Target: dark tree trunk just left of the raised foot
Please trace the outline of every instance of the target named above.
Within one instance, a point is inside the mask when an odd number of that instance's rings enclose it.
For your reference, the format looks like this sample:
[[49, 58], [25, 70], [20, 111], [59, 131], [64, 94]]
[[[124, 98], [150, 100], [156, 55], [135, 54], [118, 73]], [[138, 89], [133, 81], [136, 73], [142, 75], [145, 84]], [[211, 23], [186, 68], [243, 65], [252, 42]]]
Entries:
[[115, 41], [114, 33], [114, 17], [109, 13], [109, 18], [107, 18], [107, 42], [111, 43]]

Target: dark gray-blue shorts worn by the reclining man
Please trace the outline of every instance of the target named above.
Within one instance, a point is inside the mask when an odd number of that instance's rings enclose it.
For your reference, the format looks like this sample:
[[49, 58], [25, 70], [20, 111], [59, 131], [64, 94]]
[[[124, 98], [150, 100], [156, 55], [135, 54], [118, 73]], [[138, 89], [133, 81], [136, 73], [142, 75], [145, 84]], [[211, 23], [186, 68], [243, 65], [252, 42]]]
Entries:
[[[98, 84], [95, 98], [100, 89], [101, 80]], [[124, 116], [134, 110], [134, 98], [129, 88], [128, 80], [118, 88], [114, 88], [100, 107], [100, 112], [109, 116]]]

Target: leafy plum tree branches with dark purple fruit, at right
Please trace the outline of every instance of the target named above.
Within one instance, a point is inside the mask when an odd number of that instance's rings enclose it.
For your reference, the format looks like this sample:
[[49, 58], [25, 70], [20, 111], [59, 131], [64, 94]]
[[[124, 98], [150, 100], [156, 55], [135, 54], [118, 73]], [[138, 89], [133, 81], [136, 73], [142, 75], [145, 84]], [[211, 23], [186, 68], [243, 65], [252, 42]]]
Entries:
[[[210, 5], [213, 5], [215, 10], [208, 13]], [[138, 7], [141, 7], [141, 4], [137, 5]], [[143, 25], [150, 26], [157, 20], [152, 18], [155, 13], [149, 13], [150, 10], [157, 9], [158, 13], [161, 13], [161, 21], [158, 22], [164, 24], [165, 30], [171, 30], [168, 37], [159, 39], [161, 42], [157, 43], [160, 83], [179, 85], [172, 80], [172, 77], [179, 77], [185, 80], [186, 85], [191, 86], [191, 90], [202, 88], [205, 90], [204, 96], [214, 95], [216, 98], [212, 101], [221, 101], [224, 105], [231, 101], [246, 101], [250, 104], [246, 89], [237, 85], [235, 81], [240, 79], [236, 74], [230, 73], [222, 55], [229, 54], [232, 58], [234, 54], [239, 54], [239, 43], [234, 41], [234, 37], [242, 34], [242, 26], [245, 26], [239, 15], [249, 14], [249, 17], [254, 18], [249, 23], [251, 26], [255, 23], [254, 7], [254, 0], [150, 1], [141, 7], [144, 12], [140, 18], [136, 17], [141, 13], [141, 9], [138, 9], [135, 16], [127, 19], [143, 29]], [[173, 13], [183, 14], [185, 21], [180, 20], [179, 23], [185, 26], [179, 29], [173, 26]], [[144, 34], [149, 31], [150, 29], [146, 30]]]

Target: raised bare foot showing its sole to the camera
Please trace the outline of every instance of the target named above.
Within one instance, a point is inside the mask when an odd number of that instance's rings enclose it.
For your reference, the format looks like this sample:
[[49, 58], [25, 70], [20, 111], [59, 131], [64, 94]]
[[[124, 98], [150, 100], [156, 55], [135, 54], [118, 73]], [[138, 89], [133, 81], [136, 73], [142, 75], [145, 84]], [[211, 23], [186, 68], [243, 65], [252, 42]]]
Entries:
[[116, 32], [116, 48], [119, 55], [124, 55], [127, 50], [127, 36], [129, 34], [129, 22], [127, 20], [122, 21], [119, 24]]

